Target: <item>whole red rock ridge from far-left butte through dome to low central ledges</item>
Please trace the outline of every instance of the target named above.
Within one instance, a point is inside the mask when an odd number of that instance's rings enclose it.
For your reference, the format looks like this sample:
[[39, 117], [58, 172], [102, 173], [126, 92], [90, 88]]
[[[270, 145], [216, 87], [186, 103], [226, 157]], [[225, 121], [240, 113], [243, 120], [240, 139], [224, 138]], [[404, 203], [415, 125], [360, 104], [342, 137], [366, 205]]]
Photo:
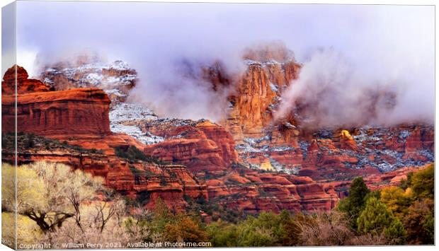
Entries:
[[[13, 67], [14, 68], [14, 67]], [[232, 134], [218, 124], [200, 120], [154, 119], [118, 121], [120, 128], [143, 130], [156, 141], [110, 130], [108, 95], [98, 88], [52, 91], [45, 83], [29, 80], [17, 66], [18, 162], [47, 160], [66, 163], [105, 178], [106, 185], [147, 207], [161, 197], [173, 209], [186, 207], [186, 197], [249, 213], [281, 209], [329, 210], [338, 202], [333, 187], [309, 177], [263, 173], [240, 164]], [[14, 79], [10, 69], [6, 81]], [[11, 83], [11, 82], [9, 82]], [[30, 84], [32, 83], [32, 84]], [[13, 82], [12, 82], [13, 84]], [[52, 86], [53, 87], [53, 86]], [[31, 91], [34, 90], [34, 91]], [[36, 91], [35, 91], [36, 90]], [[13, 158], [14, 95], [2, 95], [4, 160]], [[113, 107], [113, 109], [118, 109]], [[113, 110], [114, 111], [114, 110]], [[133, 112], [137, 112], [133, 110]], [[139, 139], [144, 139], [140, 137]], [[139, 152], [143, 152], [140, 154]], [[195, 175], [193, 175], [193, 173]]]

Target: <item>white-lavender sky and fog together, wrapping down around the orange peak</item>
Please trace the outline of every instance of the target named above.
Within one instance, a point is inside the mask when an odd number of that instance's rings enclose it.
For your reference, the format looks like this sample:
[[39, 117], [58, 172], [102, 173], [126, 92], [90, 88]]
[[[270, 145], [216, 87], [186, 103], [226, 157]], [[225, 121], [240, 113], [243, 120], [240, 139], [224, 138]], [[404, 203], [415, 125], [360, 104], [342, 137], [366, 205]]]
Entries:
[[84, 52], [122, 59], [139, 73], [130, 100], [162, 116], [224, 117], [231, 90], [217, 95], [181, 62], [218, 59], [239, 75], [243, 49], [282, 41], [303, 67], [278, 117], [299, 99], [314, 104], [319, 126], [355, 124], [367, 115], [365, 93], [384, 90], [394, 105], [378, 104], [365, 122], [433, 122], [432, 6], [19, 1], [17, 16], [17, 63], [30, 76]]

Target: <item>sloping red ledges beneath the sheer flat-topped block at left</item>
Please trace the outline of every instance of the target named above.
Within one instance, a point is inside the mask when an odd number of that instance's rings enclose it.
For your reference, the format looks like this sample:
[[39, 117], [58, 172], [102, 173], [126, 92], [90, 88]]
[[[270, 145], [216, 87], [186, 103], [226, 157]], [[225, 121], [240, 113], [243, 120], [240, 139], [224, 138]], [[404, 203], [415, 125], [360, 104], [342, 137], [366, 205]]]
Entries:
[[[45, 160], [79, 168], [103, 177], [108, 187], [139, 200], [149, 209], [154, 208], [159, 197], [177, 211], [187, 206], [185, 197], [208, 199], [206, 185], [198, 181], [183, 165], [158, 165], [115, 156], [113, 147], [132, 144], [133, 139], [124, 139], [127, 136], [89, 136], [74, 140], [59, 136], [60, 140], [65, 140], [68, 144], [82, 146], [81, 150], [61, 144], [61, 141], [49, 141], [41, 136], [34, 136], [33, 146], [29, 148], [24, 137], [18, 137], [19, 165]], [[2, 149], [3, 160], [11, 161], [14, 156], [13, 147]]]

